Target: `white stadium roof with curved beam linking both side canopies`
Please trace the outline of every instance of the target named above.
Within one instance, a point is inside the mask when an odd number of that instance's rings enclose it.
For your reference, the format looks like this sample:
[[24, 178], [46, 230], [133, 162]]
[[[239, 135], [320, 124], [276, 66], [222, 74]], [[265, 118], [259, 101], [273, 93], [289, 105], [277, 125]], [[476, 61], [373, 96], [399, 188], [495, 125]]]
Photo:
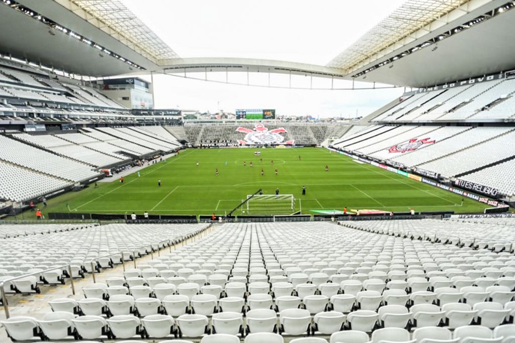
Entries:
[[261, 71], [423, 87], [515, 69], [514, 6], [407, 0], [324, 66], [180, 58], [120, 0], [0, 0], [0, 53], [92, 77]]

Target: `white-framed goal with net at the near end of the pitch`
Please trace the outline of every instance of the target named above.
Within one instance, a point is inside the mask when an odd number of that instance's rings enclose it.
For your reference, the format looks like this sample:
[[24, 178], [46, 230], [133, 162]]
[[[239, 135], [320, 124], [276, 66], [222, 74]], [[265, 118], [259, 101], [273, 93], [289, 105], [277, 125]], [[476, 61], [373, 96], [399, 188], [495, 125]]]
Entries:
[[248, 214], [290, 214], [295, 210], [293, 194], [247, 195]]

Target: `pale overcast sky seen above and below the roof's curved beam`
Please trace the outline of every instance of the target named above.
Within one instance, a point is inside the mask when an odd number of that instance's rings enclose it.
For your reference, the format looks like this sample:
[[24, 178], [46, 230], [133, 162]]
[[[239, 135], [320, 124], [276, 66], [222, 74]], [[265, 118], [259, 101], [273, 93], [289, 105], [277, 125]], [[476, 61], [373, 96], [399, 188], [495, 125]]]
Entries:
[[[404, 0], [122, 0], [180, 57], [239, 57], [325, 65], [381, 21]], [[225, 73], [209, 75], [225, 81]], [[262, 73], [263, 74], [263, 73]], [[203, 74], [189, 74], [204, 78]], [[266, 78], [266, 81], [265, 79]], [[271, 84], [287, 86], [288, 77], [272, 75]], [[309, 77], [292, 85], [309, 87]], [[230, 82], [246, 83], [244, 73]], [[268, 76], [251, 75], [250, 83], [267, 84]], [[347, 88], [340, 81], [335, 87]], [[370, 84], [363, 84], [370, 86]], [[314, 79], [314, 87], [330, 87]], [[155, 107], [217, 112], [239, 108], [275, 108], [281, 115], [366, 115], [399, 97], [403, 88], [367, 91], [316, 91], [252, 87], [155, 76]]]

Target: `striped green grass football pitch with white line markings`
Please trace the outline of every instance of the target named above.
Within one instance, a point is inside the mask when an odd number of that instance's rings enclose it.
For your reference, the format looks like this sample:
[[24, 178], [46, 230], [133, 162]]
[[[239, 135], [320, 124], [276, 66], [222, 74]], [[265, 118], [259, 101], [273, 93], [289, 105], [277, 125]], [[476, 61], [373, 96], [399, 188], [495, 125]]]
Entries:
[[[483, 212], [486, 205], [425, 185], [325, 149], [189, 149], [112, 182], [52, 198], [44, 213], [224, 214], [259, 188], [264, 194], [294, 194], [296, 210], [377, 209]], [[301, 160], [298, 156], [301, 155]], [[274, 161], [274, 165], [270, 164]], [[199, 166], [195, 162], [199, 161]], [[227, 161], [227, 165], [226, 165]], [[243, 166], [243, 161], [247, 166]], [[254, 167], [249, 167], [253, 161]], [[325, 165], [329, 172], [325, 172]], [[215, 176], [218, 168], [219, 175]], [[261, 168], [265, 175], [261, 176]], [[274, 169], [279, 170], [275, 175]], [[158, 187], [158, 179], [162, 186]], [[306, 195], [301, 195], [306, 186]], [[41, 205], [40, 205], [41, 206]], [[242, 214], [241, 210], [235, 214]], [[251, 213], [258, 214], [258, 213]]]

